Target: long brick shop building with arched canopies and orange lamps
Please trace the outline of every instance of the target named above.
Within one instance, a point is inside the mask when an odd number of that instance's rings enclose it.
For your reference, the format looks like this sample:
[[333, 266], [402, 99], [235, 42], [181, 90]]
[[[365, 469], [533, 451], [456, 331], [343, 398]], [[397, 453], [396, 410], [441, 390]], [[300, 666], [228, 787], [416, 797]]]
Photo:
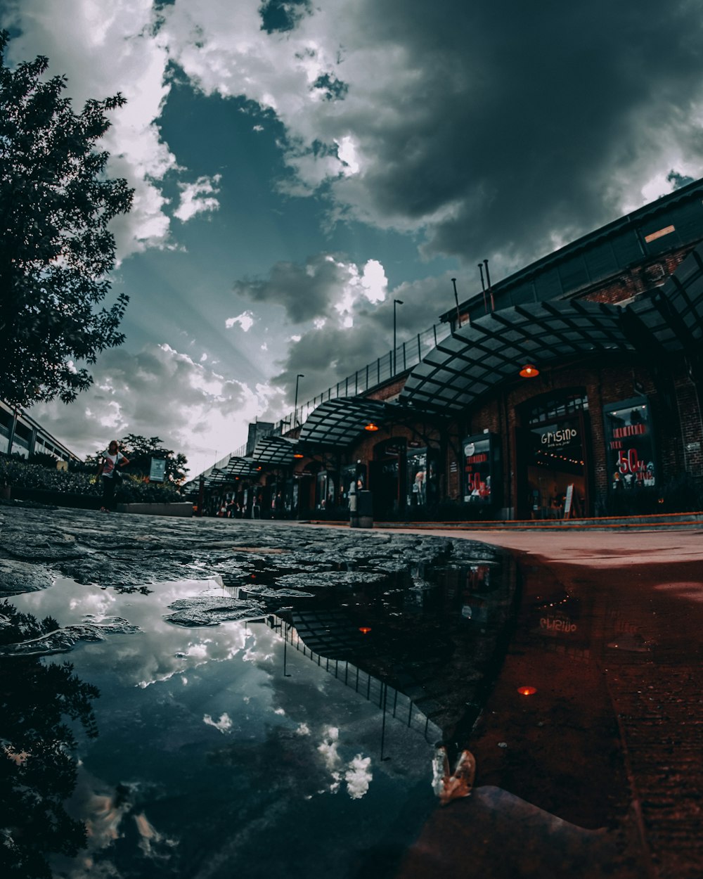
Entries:
[[702, 242], [697, 181], [482, 285], [415, 366], [257, 444], [243, 514], [344, 518], [359, 490], [376, 519], [695, 508]]

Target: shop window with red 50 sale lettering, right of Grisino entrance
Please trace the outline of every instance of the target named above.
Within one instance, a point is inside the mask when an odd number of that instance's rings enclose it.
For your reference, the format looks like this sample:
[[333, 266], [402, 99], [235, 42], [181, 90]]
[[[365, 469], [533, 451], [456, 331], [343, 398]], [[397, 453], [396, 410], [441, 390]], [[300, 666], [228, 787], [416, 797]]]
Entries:
[[613, 403], [603, 414], [610, 490], [654, 487], [656, 459], [647, 400]]

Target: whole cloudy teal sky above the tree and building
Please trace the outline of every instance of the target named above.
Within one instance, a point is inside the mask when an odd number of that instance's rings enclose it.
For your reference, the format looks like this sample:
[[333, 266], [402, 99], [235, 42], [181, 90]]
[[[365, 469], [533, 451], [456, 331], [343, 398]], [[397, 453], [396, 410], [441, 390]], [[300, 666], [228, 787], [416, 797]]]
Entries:
[[[692, 0], [0, 0], [134, 187], [126, 341], [31, 414], [76, 454], [159, 436], [191, 476], [562, 244], [703, 176]], [[109, 302], [108, 302], [109, 304]]]

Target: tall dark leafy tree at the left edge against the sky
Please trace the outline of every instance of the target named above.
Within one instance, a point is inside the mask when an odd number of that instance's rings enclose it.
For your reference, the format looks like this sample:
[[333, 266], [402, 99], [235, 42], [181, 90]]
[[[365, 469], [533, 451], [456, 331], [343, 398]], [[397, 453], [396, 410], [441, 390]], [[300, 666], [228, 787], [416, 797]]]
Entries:
[[65, 76], [40, 81], [47, 58], [5, 66], [7, 40], [0, 32], [0, 397], [69, 403], [91, 385], [83, 364], [124, 341], [127, 295], [98, 306], [115, 258], [107, 227], [134, 191], [105, 177], [108, 154], [94, 147], [125, 98], [91, 99], [76, 115]]

